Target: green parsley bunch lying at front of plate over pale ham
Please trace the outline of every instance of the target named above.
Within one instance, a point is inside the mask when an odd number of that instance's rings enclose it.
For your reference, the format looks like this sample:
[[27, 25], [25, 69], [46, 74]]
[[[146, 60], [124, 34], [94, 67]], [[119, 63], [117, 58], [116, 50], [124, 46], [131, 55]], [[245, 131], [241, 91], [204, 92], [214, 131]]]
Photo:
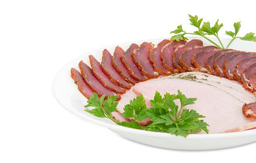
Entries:
[[[177, 95], [166, 93], [164, 97], [156, 91], [154, 99], [150, 100], [151, 108], [149, 109], [146, 106], [143, 95], [137, 96], [129, 104], [125, 105], [124, 112], [122, 113], [125, 118], [132, 119], [131, 122], [116, 122], [112, 119], [111, 113], [116, 111], [118, 104], [118, 102], [115, 102], [116, 96], [109, 96], [103, 103], [104, 97], [98, 98], [98, 95], [94, 93], [85, 106], [85, 108], [94, 107], [94, 109], [86, 109], [85, 111], [97, 117], [109, 118], [118, 125], [133, 129], [145, 129], [184, 137], [201, 130], [208, 133], [208, 124], [199, 119], [205, 116], [200, 115], [193, 109], [184, 108], [187, 105], [193, 104], [197, 99], [187, 98], [179, 90]], [[174, 102], [175, 100], [180, 101], [180, 106]], [[137, 123], [137, 121], [142, 121], [147, 117], [152, 121], [148, 126], [142, 126]]]

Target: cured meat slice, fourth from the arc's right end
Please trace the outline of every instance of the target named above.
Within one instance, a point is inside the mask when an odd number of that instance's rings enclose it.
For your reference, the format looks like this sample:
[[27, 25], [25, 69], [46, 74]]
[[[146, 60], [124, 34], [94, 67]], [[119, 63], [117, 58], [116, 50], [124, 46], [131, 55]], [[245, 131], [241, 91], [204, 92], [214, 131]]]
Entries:
[[224, 61], [224, 65], [223, 65], [224, 66], [224, 68], [223, 68], [224, 75], [228, 79], [233, 80], [234, 79], [233, 72], [235, 71], [236, 64], [246, 58], [251, 58], [254, 56], [256, 56], [256, 53], [243, 52], [243, 53], [236, 54], [236, 55], [229, 57], [226, 61]]

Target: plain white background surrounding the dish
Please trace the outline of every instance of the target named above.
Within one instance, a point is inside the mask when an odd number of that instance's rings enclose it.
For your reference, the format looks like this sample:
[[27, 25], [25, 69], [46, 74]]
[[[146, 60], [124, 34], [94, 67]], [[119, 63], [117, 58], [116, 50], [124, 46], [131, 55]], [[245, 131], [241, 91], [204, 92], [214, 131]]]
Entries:
[[126, 140], [63, 109], [52, 81], [67, 62], [121, 42], [168, 38], [187, 14], [242, 21], [256, 32], [254, 0], [0, 0], [0, 163], [256, 162], [256, 143], [212, 151]]

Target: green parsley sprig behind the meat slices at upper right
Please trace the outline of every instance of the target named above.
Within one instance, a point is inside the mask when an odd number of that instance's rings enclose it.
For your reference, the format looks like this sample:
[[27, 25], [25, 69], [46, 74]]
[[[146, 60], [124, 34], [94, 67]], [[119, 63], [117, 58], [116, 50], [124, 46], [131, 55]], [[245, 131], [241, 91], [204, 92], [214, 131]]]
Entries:
[[[194, 31], [193, 33], [188, 33], [188, 32], [183, 30], [182, 25], [179, 25], [176, 30], [171, 31], [171, 34], [175, 34], [175, 35], [171, 36], [171, 40], [176, 40], [176, 41], [188, 40], [188, 38], [186, 38], [185, 35], [186, 34], [193, 34], [193, 35], [199, 35], [199, 36], [205, 38], [206, 40], [210, 41], [211, 43], [213, 43], [213, 45], [215, 45], [218, 48], [224, 48], [224, 45], [221, 42], [221, 40], [219, 38], [219, 34], [218, 34], [219, 31], [220, 31], [220, 28], [223, 27], [222, 23], [219, 24], [219, 20], [217, 20], [215, 22], [214, 26], [211, 27], [209, 21], [202, 23], [203, 19], [199, 19], [197, 15], [192, 16], [192, 15], [189, 14], [188, 16], [190, 18], [189, 19], [190, 22], [191, 22], [190, 24], [192, 26], [196, 27], [197, 30]], [[238, 38], [241, 39], [241, 40], [245, 40], [245, 41], [255, 41], [256, 42], [256, 36], [252, 32], [250, 32], [248, 34], [245, 34], [245, 36], [243, 36], [243, 37], [238, 37], [237, 34], [238, 34], [239, 30], [240, 30], [240, 27], [241, 27], [241, 22], [235, 22], [234, 23], [235, 31], [234, 32], [226, 31], [225, 34], [227, 34], [227, 35], [232, 37], [232, 40], [228, 43], [228, 46], [226, 48], [228, 48], [230, 46], [230, 44], [235, 39], [238, 39]], [[212, 41], [211, 39], [206, 37], [206, 35], [213, 35], [213, 36], [215, 36], [218, 39], [220, 44]]]

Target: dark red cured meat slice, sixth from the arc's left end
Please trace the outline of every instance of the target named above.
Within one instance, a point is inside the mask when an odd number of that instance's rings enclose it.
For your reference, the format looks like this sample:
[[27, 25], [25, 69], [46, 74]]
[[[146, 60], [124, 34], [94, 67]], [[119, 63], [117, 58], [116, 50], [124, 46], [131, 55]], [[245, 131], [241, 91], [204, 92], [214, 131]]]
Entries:
[[143, 76], [140, 69], [137, 67], [133, 61], [132, 54], [135, 52], [135, 49], [140, 48], [137, 44], [132, 44], [121, 56], [121, 61], [128, 73], [134, 77], [139, 82], [147, 80], [147, 77]]

